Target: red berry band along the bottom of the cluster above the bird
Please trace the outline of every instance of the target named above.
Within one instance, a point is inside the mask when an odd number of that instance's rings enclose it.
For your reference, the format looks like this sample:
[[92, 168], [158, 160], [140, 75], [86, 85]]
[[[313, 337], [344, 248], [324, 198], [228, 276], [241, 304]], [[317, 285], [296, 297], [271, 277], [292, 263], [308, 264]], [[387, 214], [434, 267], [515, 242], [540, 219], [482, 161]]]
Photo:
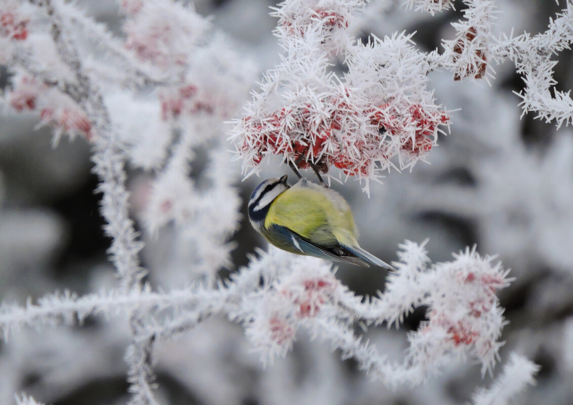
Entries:
[[[413, 157], [428, 152], [438, 126], [449, 122], [446, 113], [419, 104], [403, 111], [391, 102], [359, 110], [345, 101], [347, 97], [328, 97], [320, 109], [307, 104], [281, 108], [262, 119], [244, 117], [247, 136], [240, 153], [252, 156], [253, 165], [266, 154], [278, 154], [301, 169], [312, 162], [321, 172], [332, 165], [350, 176], [368, 176], [375, 159], [388, 160], [396, 152]], [[359, 122], [370, 126], [364, 136], [357, 136]]]

